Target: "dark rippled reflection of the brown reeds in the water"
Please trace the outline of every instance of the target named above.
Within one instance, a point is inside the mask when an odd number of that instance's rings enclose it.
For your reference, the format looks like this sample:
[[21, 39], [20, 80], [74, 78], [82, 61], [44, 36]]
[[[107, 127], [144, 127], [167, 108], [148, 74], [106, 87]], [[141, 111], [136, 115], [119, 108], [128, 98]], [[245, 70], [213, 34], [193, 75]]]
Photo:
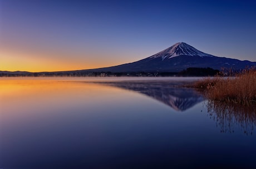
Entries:
[[221, 132], [233, 133], [236, 127], [239, 127], [244, 134], [253, 134], [253, 130], [256, 126], [255, 107], [209, 100], [207, 109], [210, 119], [216, 122]]

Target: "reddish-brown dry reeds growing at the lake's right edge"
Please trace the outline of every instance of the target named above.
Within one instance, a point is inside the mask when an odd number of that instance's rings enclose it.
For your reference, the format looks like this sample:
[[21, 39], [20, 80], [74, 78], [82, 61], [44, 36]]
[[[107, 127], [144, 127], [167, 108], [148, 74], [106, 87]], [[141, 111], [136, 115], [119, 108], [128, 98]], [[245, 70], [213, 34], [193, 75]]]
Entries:
[[205, 78], [194, 84], [208, 99], [224, 103], [256, 105], [256, 69], [245, 69], [234, 76]]

